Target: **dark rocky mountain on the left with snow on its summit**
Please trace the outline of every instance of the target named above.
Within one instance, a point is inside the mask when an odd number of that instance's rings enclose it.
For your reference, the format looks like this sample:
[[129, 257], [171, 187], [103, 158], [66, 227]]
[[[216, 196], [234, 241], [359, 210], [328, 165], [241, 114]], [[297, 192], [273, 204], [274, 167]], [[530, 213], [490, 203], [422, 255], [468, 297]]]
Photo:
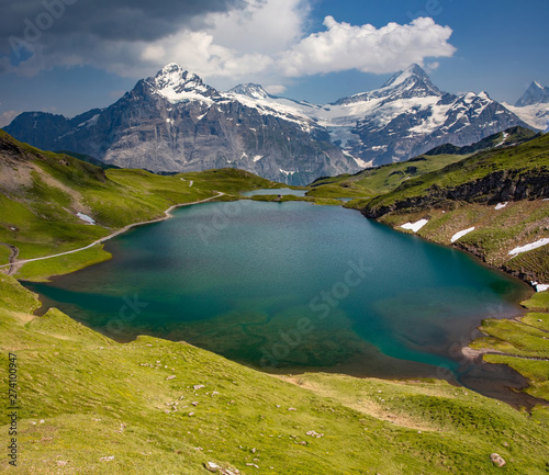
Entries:
[[152, 171], [234, 167], [291, 184], [360, 167], [295, 109], [223, 93], [176, 64], [143, 79], [111, 106], [67, 120], [23, 113], [5, 127], [49, 150]]

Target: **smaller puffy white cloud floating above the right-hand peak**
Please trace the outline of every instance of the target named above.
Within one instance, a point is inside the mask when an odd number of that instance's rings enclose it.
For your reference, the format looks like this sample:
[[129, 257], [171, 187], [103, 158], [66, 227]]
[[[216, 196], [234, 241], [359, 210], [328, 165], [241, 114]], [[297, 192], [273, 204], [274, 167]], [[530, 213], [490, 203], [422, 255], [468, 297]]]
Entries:
[[448, 43], [452, 33], [430, 18], [418, 18], [406, 25], [389, 23], [377, 29], [354, 26], [326, 16], [325, 32], [314, 33], [281, 59], [290, 77], [358, 69], [362, 72], [394, 72], [411, 63], [423, 65], [427, 57], [448, 57], [456, 48]]

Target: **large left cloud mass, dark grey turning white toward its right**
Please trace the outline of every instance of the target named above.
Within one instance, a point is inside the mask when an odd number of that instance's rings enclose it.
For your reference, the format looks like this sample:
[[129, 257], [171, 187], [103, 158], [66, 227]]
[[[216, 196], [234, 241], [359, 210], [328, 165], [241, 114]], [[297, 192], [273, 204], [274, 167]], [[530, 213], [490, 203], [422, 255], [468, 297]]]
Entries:
[[[15, 49], [23, 56], [8, 69], [30, 76], [55, 66], [92, 65], [138, 78], [176, 61], [204, 78], [245, 78], [268, 71], [273, 57], [303, 36], [309, 13], [307, 0], [177, 0], [175, 9], [172, 2], [156, 0], [112, 3], [111, 13], [107, 0], [98, 3], [102, 13], [72, 10], [80, 2], [66, 5], [65, 15], [41, 30], [37, 41], [29, 41], [22, 24], [7, 30], [3, 46], [10, 37], [13, 43], [10, 33], [19, 32]], [[122, 11], [126, 16], [119, 14]], [[23, 12], [27, 18], [35, 13]], [[72, 16], [81, 15], [72, 22]], [[81, 27], [75, 27], [79, 23]]]

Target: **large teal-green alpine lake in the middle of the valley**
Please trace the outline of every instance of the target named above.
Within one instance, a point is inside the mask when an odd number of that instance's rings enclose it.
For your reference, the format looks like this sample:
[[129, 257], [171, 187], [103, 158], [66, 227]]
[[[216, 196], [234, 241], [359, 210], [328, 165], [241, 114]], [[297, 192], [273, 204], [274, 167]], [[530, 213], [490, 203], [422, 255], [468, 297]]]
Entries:
[[518, 314], [526, 292], [463, 252], [300, 202], [181, 208], [107, 249], [111, 261], [30, 287], [117, 340], [186, 340], [267, 369], [456, 371], [452, 344]]

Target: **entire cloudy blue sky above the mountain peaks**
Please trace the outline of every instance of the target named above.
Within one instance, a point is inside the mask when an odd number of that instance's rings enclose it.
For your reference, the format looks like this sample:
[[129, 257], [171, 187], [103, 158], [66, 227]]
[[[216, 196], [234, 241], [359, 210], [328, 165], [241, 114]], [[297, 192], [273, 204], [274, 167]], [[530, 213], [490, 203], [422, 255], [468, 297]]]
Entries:
[[[47, 7], [48, 5], [48, 7]], [[0, 125], [107, 106], [176, 61], [226, 90], [326, 103], [419, 63], [514, 103], [549, 86], [547, 0], [0, 0]], [[417, 20], [423, 18], [423, 20]]]

